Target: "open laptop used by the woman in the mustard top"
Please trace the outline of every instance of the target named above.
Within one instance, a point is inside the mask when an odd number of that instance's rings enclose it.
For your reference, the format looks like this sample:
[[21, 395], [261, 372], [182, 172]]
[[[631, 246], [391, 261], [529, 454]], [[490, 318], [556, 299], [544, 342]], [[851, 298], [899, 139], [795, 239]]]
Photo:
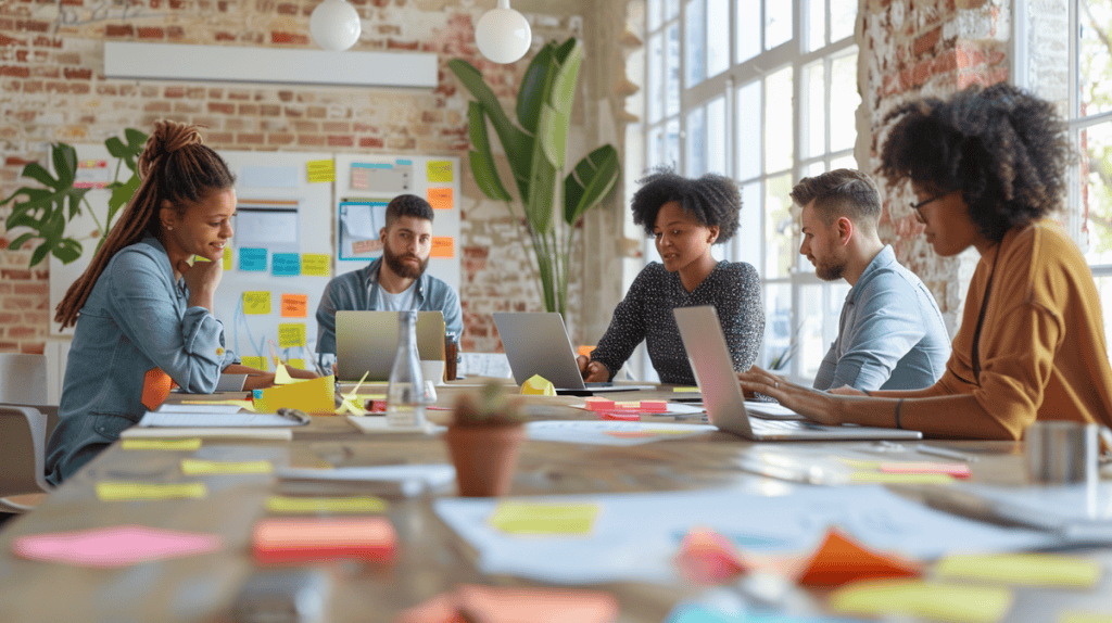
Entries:
[[749, 418], [737, 374], [722, 334], [718, 314], [712, 307], [676, 308], [676, 324], [703, 393], [707, 416], [721, 430], [755, 441], [914, 440], [919, 431], [844, 424], [826, 426], [805, 420], [759, 420]]

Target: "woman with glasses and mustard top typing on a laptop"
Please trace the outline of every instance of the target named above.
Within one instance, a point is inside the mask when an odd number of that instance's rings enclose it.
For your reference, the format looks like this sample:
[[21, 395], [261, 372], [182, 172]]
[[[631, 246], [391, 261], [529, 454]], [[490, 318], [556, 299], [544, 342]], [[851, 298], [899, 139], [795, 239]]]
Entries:
[[1036, 420], [1112, 425], [1100, 297], [1078, 247], [1046, 218], [1063, 205], [1072, 158], [1053, 105], [996, 84], [904, 104], [886, 120], [881, 172], [911, 183], [926, 240], [943, 257], [981, 255], [942, 379], [867, 399], [753, 369], [742, 386], [824, 423], [932, 436], [1019, 440]]

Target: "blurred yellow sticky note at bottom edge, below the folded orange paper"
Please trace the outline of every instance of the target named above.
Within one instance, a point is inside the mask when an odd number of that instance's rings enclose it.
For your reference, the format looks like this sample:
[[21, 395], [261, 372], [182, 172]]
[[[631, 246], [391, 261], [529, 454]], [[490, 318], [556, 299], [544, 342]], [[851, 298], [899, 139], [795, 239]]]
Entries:
[[830, 595], [830, 607], [838, 614], [904, 614], [954, 623], [995, 623], [1011, 605], [1007, 589], [917, 580], [856, 582]]

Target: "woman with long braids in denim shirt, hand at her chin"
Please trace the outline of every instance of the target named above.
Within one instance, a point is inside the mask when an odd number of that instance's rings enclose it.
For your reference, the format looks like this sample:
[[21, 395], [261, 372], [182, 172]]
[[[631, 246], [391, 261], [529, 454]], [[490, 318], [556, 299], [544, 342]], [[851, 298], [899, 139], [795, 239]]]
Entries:
[[[226, 371], [252, 374], [245, 389], [274, 383], [234, 363], [212, 315], [236, 213], [228, 165], [196, 127], [160, 121], [138, 169], [139, 189], [54, 316], [76, 329], [47, 448], [53, 484], [157, 409], [171, 382], [211, 393]], [[193, 255], [209, 261], [191, 264]]]

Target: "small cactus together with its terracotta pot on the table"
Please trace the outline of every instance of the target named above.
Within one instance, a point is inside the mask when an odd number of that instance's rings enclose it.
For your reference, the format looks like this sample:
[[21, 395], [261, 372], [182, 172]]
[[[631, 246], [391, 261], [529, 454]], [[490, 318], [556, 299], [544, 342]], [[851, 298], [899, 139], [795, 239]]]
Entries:
[[524, 422], [519, 400], [507, 399], [497, 382], [487, 383], [476, 395], [459, 396], [445, 441], [460, 495], [484, 498], [509, 491], [525, 439]]

